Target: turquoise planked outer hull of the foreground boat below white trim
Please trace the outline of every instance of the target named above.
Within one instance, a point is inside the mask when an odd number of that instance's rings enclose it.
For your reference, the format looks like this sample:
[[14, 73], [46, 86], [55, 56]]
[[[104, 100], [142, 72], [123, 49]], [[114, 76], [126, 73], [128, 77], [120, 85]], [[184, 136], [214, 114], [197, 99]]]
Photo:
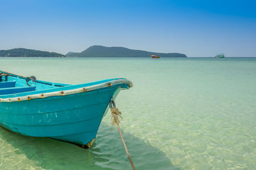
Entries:
[[120, 88], [93, 90], [0, 104], [0, 125], [25, 136], [49, 137], [84, 146], [95, 138]]

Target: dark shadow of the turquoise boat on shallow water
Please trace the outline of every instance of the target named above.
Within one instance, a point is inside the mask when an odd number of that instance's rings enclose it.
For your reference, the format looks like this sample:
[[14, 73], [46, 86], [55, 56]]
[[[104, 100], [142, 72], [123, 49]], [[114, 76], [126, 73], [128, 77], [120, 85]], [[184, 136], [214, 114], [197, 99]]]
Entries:
[[[136, 169], [180, 169], [172, 165], [164, 152], [140, 138], [128, 132], [123, 132], [123, 136]], [[4, 146], [10, 147], [8, 152], [12, 150], [17, 159], [19, 155], [25, 155], [42, 169], [131, 169], [116, 127], [104, 122], [100, 125], [95, 143], [88, 150], [50, 138], [21, 136], [3, 128], [0, 128], [0, 139], [10, 144]], [[4, 157], [9, 162], [12, 158]], [[19, 161], [17, 159], [13, 162]], [[4, 160], [1, 162], [4, 164]], [[22, 161], [15, 166], [28, 169]]]

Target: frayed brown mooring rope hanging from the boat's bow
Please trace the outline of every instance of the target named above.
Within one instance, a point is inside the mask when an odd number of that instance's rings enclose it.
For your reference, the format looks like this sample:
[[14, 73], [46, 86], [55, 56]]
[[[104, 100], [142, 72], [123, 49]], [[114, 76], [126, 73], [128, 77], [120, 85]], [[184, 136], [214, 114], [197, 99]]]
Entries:
[[119, 132], [119, 134], [121, 136], [121, 139], [123, 141], [123, 144], [124, 144], [124, 148], [125, 148], [125, 152], [127, 154], [127, 157], [128, 157], [128, 159], [129, 159], [129, 161], [131, 163], [132, 169], [135, 170], [135, 167], [134, 167], [134, 164], [132, 162], [131, 156], [130, 156], [130, 154], [128, 152], [128, 149], [127, 149], [127, 146], [125, 144], [124, 137], [123, 137], [121, 129], [119, 127], [120, 120], [118, 120], [118, 117], [123, 119], [122, 118], [122, 113], [118, 110], [118, 108], [116, 108], [116, 104], [115, 104], [115, 101], [113, 99], [111, 99], [111, 101], [109, 102], [109, 108], [110, 108], [111, 113], [112, 113], [112, 117], [111, 117], [112, 125], [116, 125], [117, 126], [118, 132]]

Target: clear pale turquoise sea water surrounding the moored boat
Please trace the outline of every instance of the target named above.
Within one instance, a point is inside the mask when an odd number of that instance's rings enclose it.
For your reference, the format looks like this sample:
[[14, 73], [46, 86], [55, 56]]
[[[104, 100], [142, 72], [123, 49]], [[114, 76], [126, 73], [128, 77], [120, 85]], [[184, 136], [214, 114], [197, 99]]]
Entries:
[[[256, 168], [256, 58], [0, 58], [0, 69], [61, 83], [131, 80], [116, 105], [137, 169]], [[0, 128], [0, 169], [131, 169], [110, 119], [89, 150]]]

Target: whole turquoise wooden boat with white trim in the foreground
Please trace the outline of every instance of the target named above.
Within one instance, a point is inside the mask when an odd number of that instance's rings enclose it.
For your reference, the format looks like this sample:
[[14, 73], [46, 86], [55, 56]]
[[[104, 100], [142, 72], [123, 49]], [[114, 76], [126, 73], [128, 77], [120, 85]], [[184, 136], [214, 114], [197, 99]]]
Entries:
[[131, 87], [125, 78], [68, 85], [0, 70], [0, 125], [24, 136], [90, 147], [109, 101]]

